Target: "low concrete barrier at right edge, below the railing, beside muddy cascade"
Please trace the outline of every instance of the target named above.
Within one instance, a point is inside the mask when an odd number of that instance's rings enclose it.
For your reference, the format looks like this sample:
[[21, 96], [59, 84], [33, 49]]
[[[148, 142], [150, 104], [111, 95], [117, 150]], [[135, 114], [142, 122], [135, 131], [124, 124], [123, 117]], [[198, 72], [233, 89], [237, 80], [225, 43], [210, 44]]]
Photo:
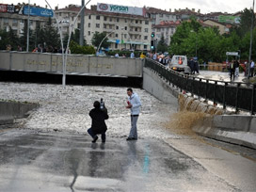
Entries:
[[193, 131], [207, 136], [256, 149], [256, 117], [224, 115], [208, 117], [199, 122]]

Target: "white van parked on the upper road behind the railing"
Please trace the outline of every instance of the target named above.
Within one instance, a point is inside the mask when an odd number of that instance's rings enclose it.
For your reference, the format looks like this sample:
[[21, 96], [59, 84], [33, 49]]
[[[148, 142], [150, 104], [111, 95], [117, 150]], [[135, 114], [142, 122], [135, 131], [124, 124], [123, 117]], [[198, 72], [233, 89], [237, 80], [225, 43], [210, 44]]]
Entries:
[[168, 66], [171, 70], [177, 72], [191, 73], [190, 67], [187, 65], [186, 56], [172, 56]]

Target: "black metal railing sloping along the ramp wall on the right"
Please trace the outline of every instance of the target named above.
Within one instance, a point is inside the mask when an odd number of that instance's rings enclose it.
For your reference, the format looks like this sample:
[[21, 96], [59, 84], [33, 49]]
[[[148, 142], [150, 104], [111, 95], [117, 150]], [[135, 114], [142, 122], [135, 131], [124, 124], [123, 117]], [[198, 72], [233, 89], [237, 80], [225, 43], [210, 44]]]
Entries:
[[224, 109], [227, 106], [232, 106], [236, 112], [245, 110], [251, 115], [255, 114], [255, 85], [209, 80], [175, 72], [149, 58], [146, 58], [144, 67], [157, 72], [161, 78], [168, 82], [169, 86], [176, 86], [180, 88], [181, 92], [185, 90], [192, 95], [198, 95], [216, 104], [222, 104]]

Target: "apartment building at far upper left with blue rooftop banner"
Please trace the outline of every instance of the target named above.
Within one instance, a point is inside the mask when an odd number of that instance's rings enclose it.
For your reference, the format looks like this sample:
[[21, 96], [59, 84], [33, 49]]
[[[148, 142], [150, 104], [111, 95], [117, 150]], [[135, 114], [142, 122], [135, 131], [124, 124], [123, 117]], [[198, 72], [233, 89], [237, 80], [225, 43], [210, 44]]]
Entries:
[[[44, 10], [46, 15], [36, 14], [41, 9]], [[27, 10], [28, 7], [25, 4], [18, 4], [17, 6], [0, 4], [0, 28], [6, 31], [11, 28], [18, 37], [23, 36], [24, 23], [27, 22], [28, 18]], [[29, 26], [31, 30], [35, 30], [37, 25], [42, 27], [48, 22], [48, 16], [53, 16], [50, 9], [39, 8], [36, 5], [30, 7], [30, 12]]]

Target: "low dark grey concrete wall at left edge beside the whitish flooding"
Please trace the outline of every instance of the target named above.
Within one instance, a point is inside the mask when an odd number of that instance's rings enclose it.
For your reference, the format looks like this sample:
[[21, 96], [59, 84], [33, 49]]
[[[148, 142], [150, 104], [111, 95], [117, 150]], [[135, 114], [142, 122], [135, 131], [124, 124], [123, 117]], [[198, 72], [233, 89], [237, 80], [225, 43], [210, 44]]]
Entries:
[[8, 124], [17, 118], [24, 118], [28, 111], [37, 107], [39, 104], [0, 102], [0, 124]]

